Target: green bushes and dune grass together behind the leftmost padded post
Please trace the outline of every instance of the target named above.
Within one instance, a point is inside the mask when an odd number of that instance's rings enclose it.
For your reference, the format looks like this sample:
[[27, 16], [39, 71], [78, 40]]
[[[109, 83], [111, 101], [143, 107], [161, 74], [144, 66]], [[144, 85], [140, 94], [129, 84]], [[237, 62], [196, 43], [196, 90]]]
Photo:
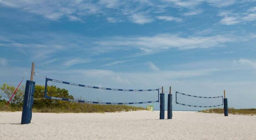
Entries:
[[[9, 95], [15, 90], [14, 86], [9, 86], [4, 84], [1, 87], [1, 90]], [[1, 111], [22, 111], [23, 106], [23, 97], [24, 97], [25, 88], [19, 89], [17, 94], [17, 100], [10, 103], [9, 106], [5, 107], [7, 100], [0, 98], [0, 110]], [[68, 90], [60, 89], [56, 86], [47, 87], [47, 95], [59, 98], [68, 98], [74, 99], [72, 95], [69, 95]], [[16, 96], [16, 95], [15, 95]], [[15, 97], [14, 96], [14, 97]], [[135, 107], [128, 105], [100, 105], [100, 104], [87, 104], [87, 103], [78, 103], [78, 102], [68, 102], [62, 100], [52, 100], [45, 99], [45, 86], [35, 85], [34, 92], [34, 104], [32, 111], [33, 112], [43, 112], [43, 113], [92, 113], [92, 112], [122, 112], [122, 111], [137, 111], [145, 110], [144, 107]]]

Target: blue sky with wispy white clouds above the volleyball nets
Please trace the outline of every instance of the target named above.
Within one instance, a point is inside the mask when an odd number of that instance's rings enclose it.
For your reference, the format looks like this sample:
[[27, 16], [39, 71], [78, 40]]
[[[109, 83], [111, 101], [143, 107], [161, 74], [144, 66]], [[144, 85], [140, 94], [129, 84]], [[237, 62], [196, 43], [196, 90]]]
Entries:
[[256, 0], [0, 0], [0, 84], [32, 62], [36, 84], [226, 90], [229, 107], [256, 108]]

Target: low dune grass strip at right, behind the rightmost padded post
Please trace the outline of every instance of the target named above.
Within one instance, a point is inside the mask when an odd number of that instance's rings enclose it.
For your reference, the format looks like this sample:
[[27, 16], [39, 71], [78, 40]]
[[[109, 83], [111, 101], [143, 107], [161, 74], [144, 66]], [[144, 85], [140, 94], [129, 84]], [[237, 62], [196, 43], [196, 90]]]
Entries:
[[[200, 112], [204, 113], [224, 113], [223, 108], [217, 108], [217, 109], [208, 109], [208, 110], [203, 110]], [[256, 115], [256, 109], [234, 109], [234, 108], [229, 108], [229, 114], [243, 114], [243, 115]]]

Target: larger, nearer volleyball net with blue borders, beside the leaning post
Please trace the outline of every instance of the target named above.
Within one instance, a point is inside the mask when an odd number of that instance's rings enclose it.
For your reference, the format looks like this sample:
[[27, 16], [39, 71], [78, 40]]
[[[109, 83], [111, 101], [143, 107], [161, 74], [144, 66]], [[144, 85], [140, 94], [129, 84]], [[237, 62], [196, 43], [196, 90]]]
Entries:
[[46, 78], [45, 98], [93, 104], [144, 104], [159, 102], [159, 89], [113, 89]]

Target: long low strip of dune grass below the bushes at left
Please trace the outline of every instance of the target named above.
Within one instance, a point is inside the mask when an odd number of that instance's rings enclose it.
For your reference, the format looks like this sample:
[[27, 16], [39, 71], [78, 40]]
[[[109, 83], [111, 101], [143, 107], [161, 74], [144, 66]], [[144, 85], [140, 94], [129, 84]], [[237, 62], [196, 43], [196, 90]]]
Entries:
[[[5, 108], [4, 103], [0, 103], [1, 111], [22, 111], [21, 106], [7, 106]], [[34, 106], [33, 112], [42, 113], [104, 113], [104, 112], [122, 112], [122, 111], [138, 111], [145, 110], [143, 107], [135, 107], [128, 105], [98, 105], [98, 104], [85, 104], [85, 103], [75, 103], [66, 102], [62, 106], [49, 106], [49, 107], [36, 107]]]

